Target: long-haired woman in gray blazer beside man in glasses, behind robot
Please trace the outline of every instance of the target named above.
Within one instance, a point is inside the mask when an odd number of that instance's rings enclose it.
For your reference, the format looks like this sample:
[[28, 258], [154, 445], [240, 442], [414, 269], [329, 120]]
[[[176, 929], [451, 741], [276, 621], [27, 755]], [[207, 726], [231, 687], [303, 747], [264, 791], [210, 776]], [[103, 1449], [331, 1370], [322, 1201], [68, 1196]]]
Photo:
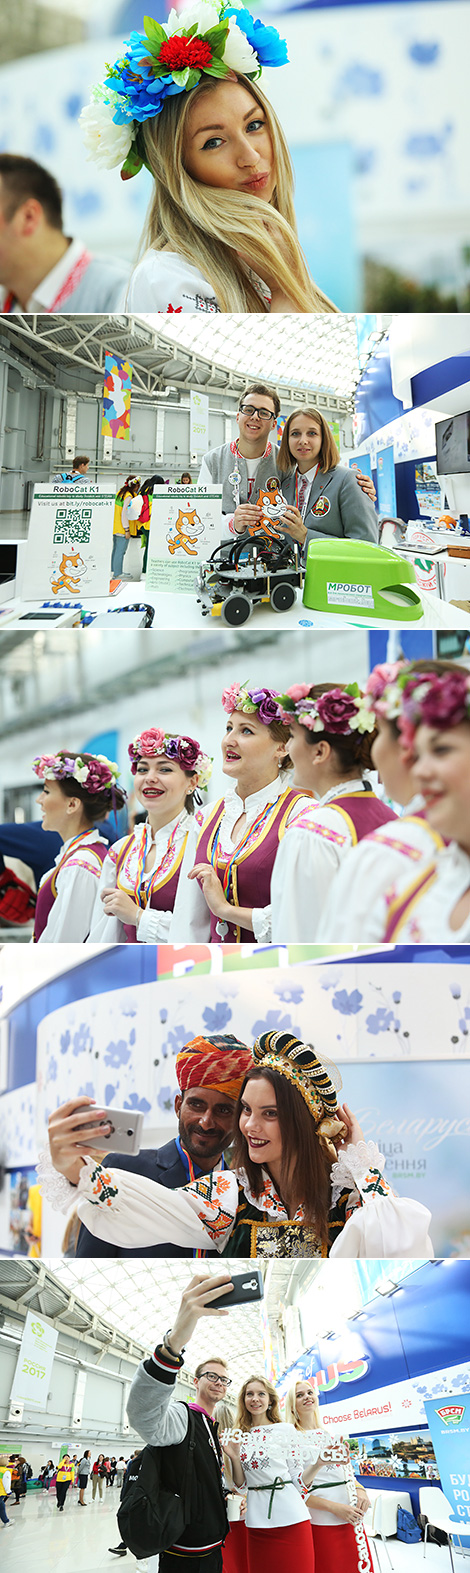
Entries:
[[289, 415], [277, 470], [288, 503], [281, 527], [303, 547], [303, 558], [308, 543], [327, 535], [379, 540], [373, 483], [366, 475], [358, 483], [355, 470], [340, 464], [330, 426], [318, 409]]

